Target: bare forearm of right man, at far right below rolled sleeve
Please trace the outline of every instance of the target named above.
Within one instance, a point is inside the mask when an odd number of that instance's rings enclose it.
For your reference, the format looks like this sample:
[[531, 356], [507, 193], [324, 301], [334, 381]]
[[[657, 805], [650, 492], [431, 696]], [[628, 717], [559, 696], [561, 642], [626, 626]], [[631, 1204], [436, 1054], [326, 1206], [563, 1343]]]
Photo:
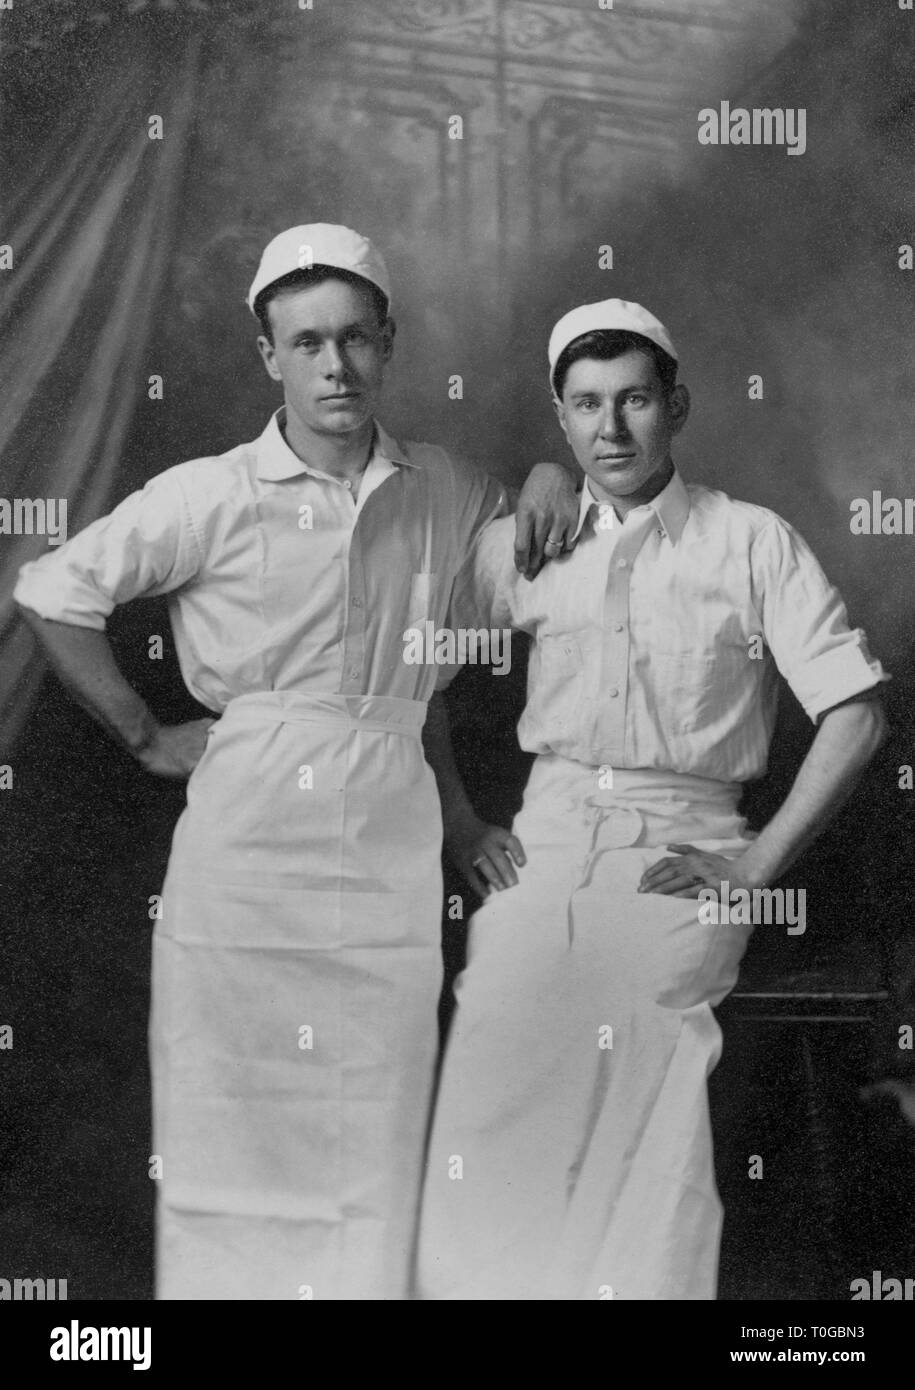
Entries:
[[876, 701], [823, 717], [791, 791], [741, 856], [748, 877], [770, 884], [790, 869], [848, 801], [884, 738], [886, 716]]

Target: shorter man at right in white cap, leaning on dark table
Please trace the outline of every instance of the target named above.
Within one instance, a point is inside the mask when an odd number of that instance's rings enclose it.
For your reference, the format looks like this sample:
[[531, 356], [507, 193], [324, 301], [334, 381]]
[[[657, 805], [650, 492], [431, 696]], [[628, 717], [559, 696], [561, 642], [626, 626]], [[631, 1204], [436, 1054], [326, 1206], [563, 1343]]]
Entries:
[[[656, 318], [581, 306], [549, 367], [580, 543], [519, 584], [496, 521], [458, 585], [462, 623], [534, 638], [519, 737], [538, 756], [519, 885], [473, 919], [458, 981], [419, 1290], [713, 1298], [712, 1005], [751, 926], [719, 924], [708, 891], [770, 885], [819, 834], [883, 738], [886, 676], [790, 525], [684, 484], [690, 398]], [[737, 806], [766, 767], [775, 667], [818, 731], [752, 837]], [[442, 792], [448, 826], [467, 813], [453, 767]]]

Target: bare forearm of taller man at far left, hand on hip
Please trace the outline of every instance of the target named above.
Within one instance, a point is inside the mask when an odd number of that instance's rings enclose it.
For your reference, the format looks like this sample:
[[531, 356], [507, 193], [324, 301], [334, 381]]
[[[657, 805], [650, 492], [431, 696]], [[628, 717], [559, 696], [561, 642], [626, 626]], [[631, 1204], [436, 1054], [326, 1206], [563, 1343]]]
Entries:
[[118, 670], [106, 634], [72, 623], [54, 623], [24, 606], [19, 613], [78, 703], [132, 753], [142, 752], [159, 724]]

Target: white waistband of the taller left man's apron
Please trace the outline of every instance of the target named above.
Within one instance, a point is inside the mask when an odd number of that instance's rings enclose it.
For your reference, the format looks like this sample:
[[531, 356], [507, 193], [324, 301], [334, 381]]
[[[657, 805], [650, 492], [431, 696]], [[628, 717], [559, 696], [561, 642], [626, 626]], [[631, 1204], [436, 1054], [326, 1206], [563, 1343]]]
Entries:
[[363, 733], [421, 738], [426, 701], [395, 695], [303, 695], [299, 691], [254, 691], [236, 695], [221, 721], [257, 724], [334, 724]]

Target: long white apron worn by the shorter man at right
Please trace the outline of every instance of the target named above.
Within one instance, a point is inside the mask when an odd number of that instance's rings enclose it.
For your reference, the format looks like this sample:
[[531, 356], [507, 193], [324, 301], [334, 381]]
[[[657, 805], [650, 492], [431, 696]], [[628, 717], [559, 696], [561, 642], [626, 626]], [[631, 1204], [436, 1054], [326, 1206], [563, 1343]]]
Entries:
[[751, 929], [637, 887], [672, 842], [738, 855], [738, 795], [658, 771], [601, 791], [598, 769], [534, 763], [515, 821], [527, 865], [474, 916], [456, 986], [421, 1298], [715, 1297], [711, 1005]]

